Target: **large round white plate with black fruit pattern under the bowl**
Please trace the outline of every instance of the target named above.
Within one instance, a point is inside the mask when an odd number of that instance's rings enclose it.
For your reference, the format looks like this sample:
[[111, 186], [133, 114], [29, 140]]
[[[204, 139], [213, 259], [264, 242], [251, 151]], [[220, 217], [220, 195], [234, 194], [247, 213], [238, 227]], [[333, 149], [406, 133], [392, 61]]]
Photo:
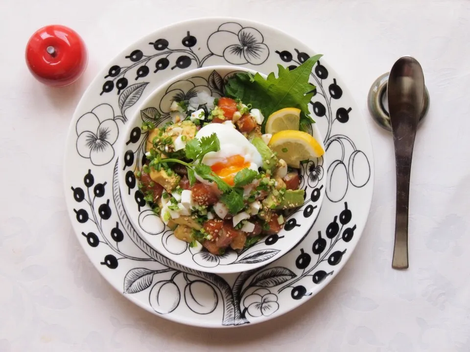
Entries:
[[[214, 43], [225, 43], [226, 49]], [[111, 285], [167, 319], [232, 327], [265, 321], [300, 306], [338, 273], [367, 220], [373, 155], [351, 93], [323, 58], [311, 82], [318, 91], [312, 99], [312, 116], [325, 138], [330, 163], [327, 185], [321, 190], [326, 198], [310, 234], [281, 259], [255, 271], [224, 275], [176, 264], [133, 228], [116, 177], [115, 148], [119, 138], [129, 137], [122, 135], [126, 116], [135, 113], [138, 100], [168, 79], [201, 66], [241, 65], [277, 72], [278, 64], [299, 65], [313, 54], [296, 39], [259, 23], [202, 19], [142, 38], [96, 77], [71, 122], [64, 184], [78, 240]], [[312, 175], [325, 172], [318, 168]]]

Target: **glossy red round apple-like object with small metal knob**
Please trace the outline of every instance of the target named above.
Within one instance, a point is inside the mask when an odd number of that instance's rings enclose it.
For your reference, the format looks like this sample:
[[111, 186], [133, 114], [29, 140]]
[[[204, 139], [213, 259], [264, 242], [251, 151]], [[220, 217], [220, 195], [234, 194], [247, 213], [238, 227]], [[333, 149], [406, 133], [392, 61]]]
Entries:
[[75, 82], [88, 63], [88, 51], [82, 38], [63, 25], [48, 25], [37, 30], [29, 38], [25, 56], [33, 76], [51, 87]]

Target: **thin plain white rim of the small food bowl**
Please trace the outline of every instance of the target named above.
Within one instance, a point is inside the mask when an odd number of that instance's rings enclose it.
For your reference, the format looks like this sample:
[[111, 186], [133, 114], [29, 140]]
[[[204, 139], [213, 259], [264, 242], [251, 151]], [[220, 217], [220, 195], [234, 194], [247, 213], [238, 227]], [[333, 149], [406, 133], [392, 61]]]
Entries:
[[[128, 135], [129, 132], [131, 131], [131, 129], [136, 127], [136, 126], [134, 126], [133, 122], [138, 121], [140, 119], [140, 111], [142, 110], [142, 108], [146, 107], [151, 102], [154, 102], [156, 96], [163, 93], [163, 95], [162, 95], [162, 97], [163, 97], [164, 94], [165, 94], [164, 90], [169, 88], [172, 84], [174, 84], [178, 81], [188, 80], [188, 78], [198, 77], [198, 75], [197, 75], [198, 72], [212, 72], [212, 71], [217, 72], [217, 71], [226, 71], [226, 70], [229, 71], [228, 73], [237, 72], [237, 71], [238, 72], [250, 72], [250, 73], [253, 73], [253, 74], [259, 73], [263, 78], [267, 77], [267, 74], [265, 74], [263, 72], [259, 72], [257, 70], [251, 69], [251, 68], [246, 68], [244, 66], [235, 66], [235, 65], [204, 66], [204, 67], [198, 67], [198, 68], [189, 70], [187, 72], [183, 72], [183, 73], [181, 73], [181, 74], [179, 74], [179, 75], [177, 75], [177, 76], [175, 76], [175, 77], [173, 77], [169, 80], [164, 81], [161, 85], [154, 88], [149, 93], [147, 98], [145, 100], [143, 100], [141, 102], [141, 104], [137, 105], [135, 112], [131, 115], [131, 117], [128, 118], [126, 126], [124, 127], [123, 135]], [[267, 117], [265, 117], [265, 118], [267, 118]], [[312, 124], [312, 125], [315, 125], [315, 124]], [[321, 138], [319, 138], [318, 142], [320, 143], [320, 145], [325, 150], [325, 145], [323, 143], [323, 136], [320, 134], [320, 131], [319, 131], [318, 128], [316, 128], [316, 130], [317, 130], [317, 133], [319, 134], [319, 136], [321, 136]], [[118, 145], [118, 185], [119, 185], [119, 189], [120, 189], [121, 193], [123, 193], [127, 190], [127, 189], [123, 189], [123, 181], [122, 181], [123, 171], [125, 170], [125, 168], [127, 168], [127, 166], [125, 166], [125, 164], [123, 162], [123, 158], [119, 157], [126, 150], [125, 147], [126, 147], [126, 140], [125, 140], [125, 138], [122, 138], [122, 140], [120, 141], [120, 143]], [[325, 158], [325, 155], [326, 155], [326, 153], [324, 153], [322, 155], [323, 165], [328, 166], [328, 161]], [[324, 168], [324, 169], [325, 169], [324, 173], [327, 174], [326, 168]], [[323, 179], [322, 179], [322, 184], [325, 185], [325, 186], [326, 186], [326, 179], [327, 179], [327, 177], [323, 177]], [[227, 264], [227, 265], [217, 264], [213, 267], [204, 267], [204, 266], [196, 264], [196, 263], [193, 264], [192, 262], [188, 261], [187, 259], [181, 260], [180, 258], [174, 258], [175, 256], [171, 255], [171, 253], [168, 253], [167, 251], [162, 251], [161, 249], [157, 248], [156, 246], [154, 246], [151, 242], [149, 242], [147, 240], [148, 236], [151, 236], [151, 235], [149, 235], [147, 232], [143, 231], [143, 229], [139, 225], [139, 222], [136, 221], [136, 219], [134, 219], [135, 217], [133, 217], [131, 214], [129, 214], [130, 212], [129, 212], [128, 206], [127, 206], [128, 201], [125, 200], [125, 199], [122, 199], [122, 203], [124, 205], [126, 214], [129, 218], [129, 220], [131, 221], [131, 223], [133, 224], [135, 230], [138, 231], [144, 239], [146, 239], [146, 242], [147, 242], [148, 245], [150, 245], [153, 249], [155, 249], [160, 254], [164, 255], [165, 257], [167, 257], [170, 260], [175, 261], [176, 263], [178, 263], [180, 265], [184, 265], [188, 268], [198, 270], [198, 271], [201, 271], [201, 272], [207, 272], [207, 273], [212, 273], [212, 274], [232, 274], [232, 273], [240, 273], [240, 272], [244, 272], [244, 271], [258, 269], [262, 266], [271, 264], [274, 261], [281, 259], [285, 254], [287, 254], [290, 251], [292, 251], [293, 249], [295, 249], [297, 247], [297, 245], [300, 242], [302, 242], [305, 239], [305, 237], [310, 233], [310, 230], [312, 229], [313, 225], [315, 224], [316, 220], [318, 219], [318, 216], [320, 215], [321, 207], [323, 205], [324, 198], [325, 198], [325, 192], [321, 192], [320, 198], [315, 202], [317, 207], [318, 207], [317, 214], [316, 214], [315, 217], [311, 218], [311, 223], [306, 224], [308, 226], [308, 229], [305, 231], [305, 233], [303, 234], [302, 237], [299, 237], [299, 239], [296, 242], [294, 242], [292, 245], [286, 246], [285, 249], [282, 249], [280, 254], [274, 255], [272, 258], [270, 258], [266, 261], [259, 262], [259, 263], [253, 263], [253, 264], [243, 263], [242, 265], [246, 265], [247, 267], [246, 267], [246, 269], [242, 269], [242, 270], [237, 269], [236, 268], [237, 266], [235, 266], [235, 265], [232, 266], [232, 265], [229, 265], [229, 264]], [[147, 204], [145, 204], [145, 206], [146, 205]], [[159, 216], [159, 218], [160, 218], [160, 216]], [[282, 230], [284, 230], [284, 229], [282, 228]], [[159, 236], [163, 236], [168, 231], [171, 231], [173, 233], [173, 230], [168, 229], [168, 230], [165, 230], [164, 232], [162, 232]], [[181, 241], [181, 240], [179, 240], [179, 241]], [[168, 257], [168, 255], [171, 255], [171, 257]], [[178, 256], [176, 256], [176, 257], [178, 257]], [[231, 267], [233, 267], [233, 269], [231, 269]]]

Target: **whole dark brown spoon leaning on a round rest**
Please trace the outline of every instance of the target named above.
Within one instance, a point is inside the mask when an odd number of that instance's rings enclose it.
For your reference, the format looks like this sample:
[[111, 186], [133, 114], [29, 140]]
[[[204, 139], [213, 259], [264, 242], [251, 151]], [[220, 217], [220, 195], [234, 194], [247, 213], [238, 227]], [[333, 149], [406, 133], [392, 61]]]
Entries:
[[408, 204], [413, 145], [424, 98], [423, 69], [416, 59], [403, 56], [388, 79], [388, 108], [395, 146], [397, 208], [392, 267], [408, 268]]

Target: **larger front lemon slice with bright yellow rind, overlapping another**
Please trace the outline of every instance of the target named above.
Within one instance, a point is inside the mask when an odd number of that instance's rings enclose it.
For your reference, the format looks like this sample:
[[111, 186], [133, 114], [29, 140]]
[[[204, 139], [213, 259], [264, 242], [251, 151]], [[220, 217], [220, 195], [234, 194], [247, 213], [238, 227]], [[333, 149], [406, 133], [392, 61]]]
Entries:
[[325, 154], [325, 150], [310, 134], [302, 131], [281, 131], [273, 134], [268, 144], [278, 158], [284, 159], [290, 167], [299, 168], [302, 160], [313, 159]]

